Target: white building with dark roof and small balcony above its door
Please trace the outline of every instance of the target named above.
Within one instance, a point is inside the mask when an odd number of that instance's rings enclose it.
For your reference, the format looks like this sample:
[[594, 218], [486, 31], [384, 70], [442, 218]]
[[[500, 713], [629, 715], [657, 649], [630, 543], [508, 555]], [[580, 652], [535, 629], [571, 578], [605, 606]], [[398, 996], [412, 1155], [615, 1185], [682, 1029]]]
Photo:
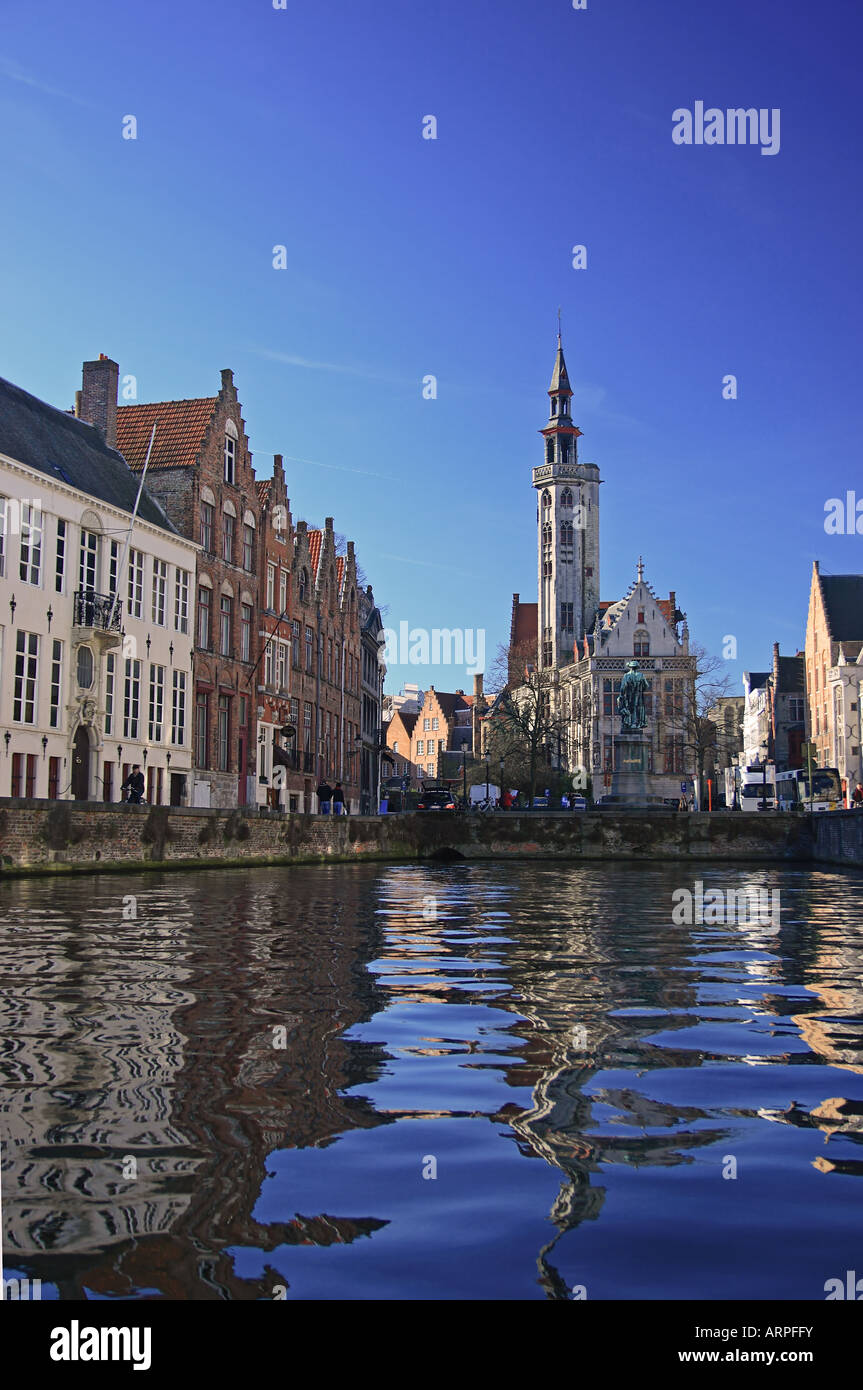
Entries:
[[0, 792], [188, 802], [192, 592], [179, 537], [94, 425], [0, 378]]

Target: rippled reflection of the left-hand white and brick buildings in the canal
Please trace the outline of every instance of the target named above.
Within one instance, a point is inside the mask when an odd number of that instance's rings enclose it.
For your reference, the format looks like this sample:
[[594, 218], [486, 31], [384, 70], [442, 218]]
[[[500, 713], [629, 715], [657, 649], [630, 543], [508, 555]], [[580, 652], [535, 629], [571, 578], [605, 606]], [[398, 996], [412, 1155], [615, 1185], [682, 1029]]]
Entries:
[[[133, 920], [120, 920], [113, 880], [96, 881], [83, 920], [79, 888], [64, 883], [43, 931], [35, 885], [10, 887], [8, 916], [28, 931], [18, 1084], [1, 1113], [7, 1266], [61, 1298], [256, 1298], [278, 1272], [239, 1277], [238, 1247], [343, 1243], [382, 1225], [338, 1208], [256, 1219], [274, 1150], [385, 1122], [346, 1094], [379, 1065], [378, 1047], [346, 1037], [375, 1009], [363, 967], [377, 951], [365, 906], [375, 870], [339, 874], [338, 891], [329, 874], [292, 873], [289, 922], [278, 870], [246, 873], [229, 897], [218, 874], [147, 878]], [[307, 949], [311, 920], [325, 949]], [[129, 1156], [136, 1177], [124, 1177]]]

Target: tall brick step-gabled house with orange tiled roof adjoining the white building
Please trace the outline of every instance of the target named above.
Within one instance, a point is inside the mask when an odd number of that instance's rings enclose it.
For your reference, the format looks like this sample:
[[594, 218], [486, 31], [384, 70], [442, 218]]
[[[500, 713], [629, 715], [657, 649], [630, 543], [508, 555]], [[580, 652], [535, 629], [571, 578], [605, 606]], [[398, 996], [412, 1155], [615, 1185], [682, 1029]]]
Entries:
[[[114, 382], [115, 382], [114, 377]], [[99, 409], [114, 393], [96, 391]], [[233, 374], [215, 396], [117, 407], [117, 448], [147, 489], [200, 543], [193, 603], [193, 787], [199, 806], [254, 802], [258, 495]]]

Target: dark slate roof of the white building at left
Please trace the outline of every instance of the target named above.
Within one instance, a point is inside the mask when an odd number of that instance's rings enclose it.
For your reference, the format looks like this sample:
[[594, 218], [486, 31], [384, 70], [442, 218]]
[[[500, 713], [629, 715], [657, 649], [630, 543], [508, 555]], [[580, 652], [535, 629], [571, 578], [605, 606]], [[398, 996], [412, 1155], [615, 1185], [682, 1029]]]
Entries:
[[[46, 477], [86, 492], [122, 512], [135, 509], [138, 478], [96, 425], [68, 416], [0, 377], [0, 450]], [[176, 530], [143, 489], [138, 516], [163, 531]]]

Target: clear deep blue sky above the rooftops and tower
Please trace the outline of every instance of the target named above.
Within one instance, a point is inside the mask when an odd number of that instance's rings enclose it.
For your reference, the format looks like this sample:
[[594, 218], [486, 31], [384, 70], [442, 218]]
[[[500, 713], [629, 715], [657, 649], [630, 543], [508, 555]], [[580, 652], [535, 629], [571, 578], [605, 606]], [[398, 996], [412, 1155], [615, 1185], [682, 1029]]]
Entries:
[[[863, 496], [862, 40], [856, 0], [6, 0], [0, 374], [68, 407], [100, 352], [142, 400], [232, 367], [258, 477], [491, 663], [560, 304], [602, 595], [643, 553], [737, 682], [802, 644], [814, 557], [863, 570], [824, 534]], [[780, 153], [674, 145], [696, 100], [778, 107]]]

